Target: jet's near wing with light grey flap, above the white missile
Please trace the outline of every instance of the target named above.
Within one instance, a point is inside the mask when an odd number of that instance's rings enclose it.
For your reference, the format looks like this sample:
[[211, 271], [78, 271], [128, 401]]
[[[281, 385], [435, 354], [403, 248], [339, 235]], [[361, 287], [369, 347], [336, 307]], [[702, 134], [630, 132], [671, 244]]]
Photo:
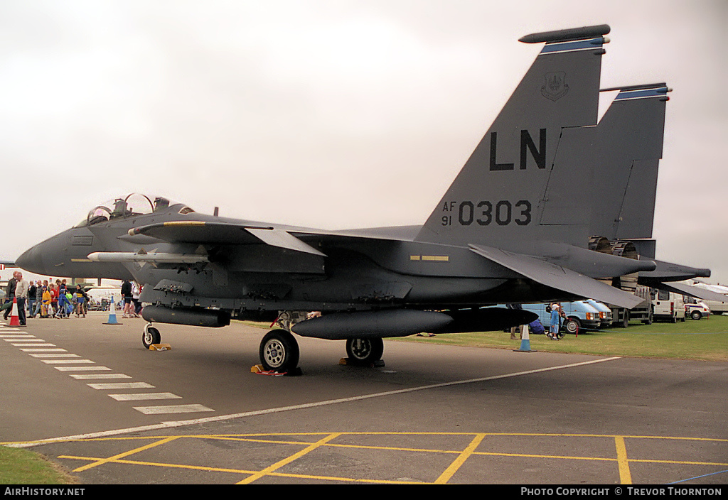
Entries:
[[134, 227], [129, 235], [146, 235], [170, 243], [242, 244], [266, 243], [282, 249], [326, 257], [296, 236], [272, 226], [240, 225], [228, 222], [170, 221]]

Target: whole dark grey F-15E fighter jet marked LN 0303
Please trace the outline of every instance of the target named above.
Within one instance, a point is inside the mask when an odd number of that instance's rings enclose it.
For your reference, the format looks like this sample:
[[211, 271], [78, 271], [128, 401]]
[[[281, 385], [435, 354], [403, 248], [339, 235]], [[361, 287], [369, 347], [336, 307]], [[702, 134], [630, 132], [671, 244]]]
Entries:
[[[384, 337], [533, 319], [488, 307], [497, 303], [586, 297], [634, 307], [643, 299], [610, 283], [638, 273], [666, 286], [710, 271], [654, 260], [669, 89], [618, 89], [597, 123], [607, 33], [598, 25], [521, 39], [545, 45], [422, 226], [317, 230], [135, 194], [96, 206], [17, 265], [143, 283], [147, 347], [160, 341], [151, 322], [218, 327], [320, 311], [293, 333], [345, 339], [349, 359], [362, 363], [381, 358]], [[266, 369], [290, 371], [298, 355], [285, 329], [260, 345]]]

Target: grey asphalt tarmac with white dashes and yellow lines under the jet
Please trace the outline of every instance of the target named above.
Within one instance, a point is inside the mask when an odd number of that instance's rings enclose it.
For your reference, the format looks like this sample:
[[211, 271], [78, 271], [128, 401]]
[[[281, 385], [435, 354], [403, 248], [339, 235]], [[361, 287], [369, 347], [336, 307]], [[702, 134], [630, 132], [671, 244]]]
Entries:
[[0, 443], [80, 483], [728, 480], [727, 363], [385, 340], [358, 368], [297, 337], [303, 374], [265, 376], [263, 329], [157, 325], [150, 351], [143, 320], [107, 319], [0, 326]]

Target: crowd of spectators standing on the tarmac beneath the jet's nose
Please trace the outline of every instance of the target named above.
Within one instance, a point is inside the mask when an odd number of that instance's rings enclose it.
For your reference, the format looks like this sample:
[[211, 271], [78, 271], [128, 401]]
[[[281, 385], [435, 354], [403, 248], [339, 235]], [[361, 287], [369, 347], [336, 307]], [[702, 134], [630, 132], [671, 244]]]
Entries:
[[[122, 299], [124, 300], [124, 318], [138, 318], [141, 311], [138, 283], [124, 281]], [[26, 281], [23, 273], [15, 271], [5, 288], [5, 302], [0, 307], [7, 320], [12, 312], [12, 302], [17, 302], [17, 316], [20, 325], [25, 325], [26, 318], [86, 318], [90, 297], [81, 285], [68, 285], [66, 280]]]

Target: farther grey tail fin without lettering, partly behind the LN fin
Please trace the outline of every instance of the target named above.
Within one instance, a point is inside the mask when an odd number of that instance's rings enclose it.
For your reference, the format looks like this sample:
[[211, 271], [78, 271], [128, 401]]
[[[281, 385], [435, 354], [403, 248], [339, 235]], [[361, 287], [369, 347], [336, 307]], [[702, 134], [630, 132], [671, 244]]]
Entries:
[[652, 238], [657, 167], [662, 158], [668, 86], [619, 90], [597, 127], [590, 234], [610, 240]]

